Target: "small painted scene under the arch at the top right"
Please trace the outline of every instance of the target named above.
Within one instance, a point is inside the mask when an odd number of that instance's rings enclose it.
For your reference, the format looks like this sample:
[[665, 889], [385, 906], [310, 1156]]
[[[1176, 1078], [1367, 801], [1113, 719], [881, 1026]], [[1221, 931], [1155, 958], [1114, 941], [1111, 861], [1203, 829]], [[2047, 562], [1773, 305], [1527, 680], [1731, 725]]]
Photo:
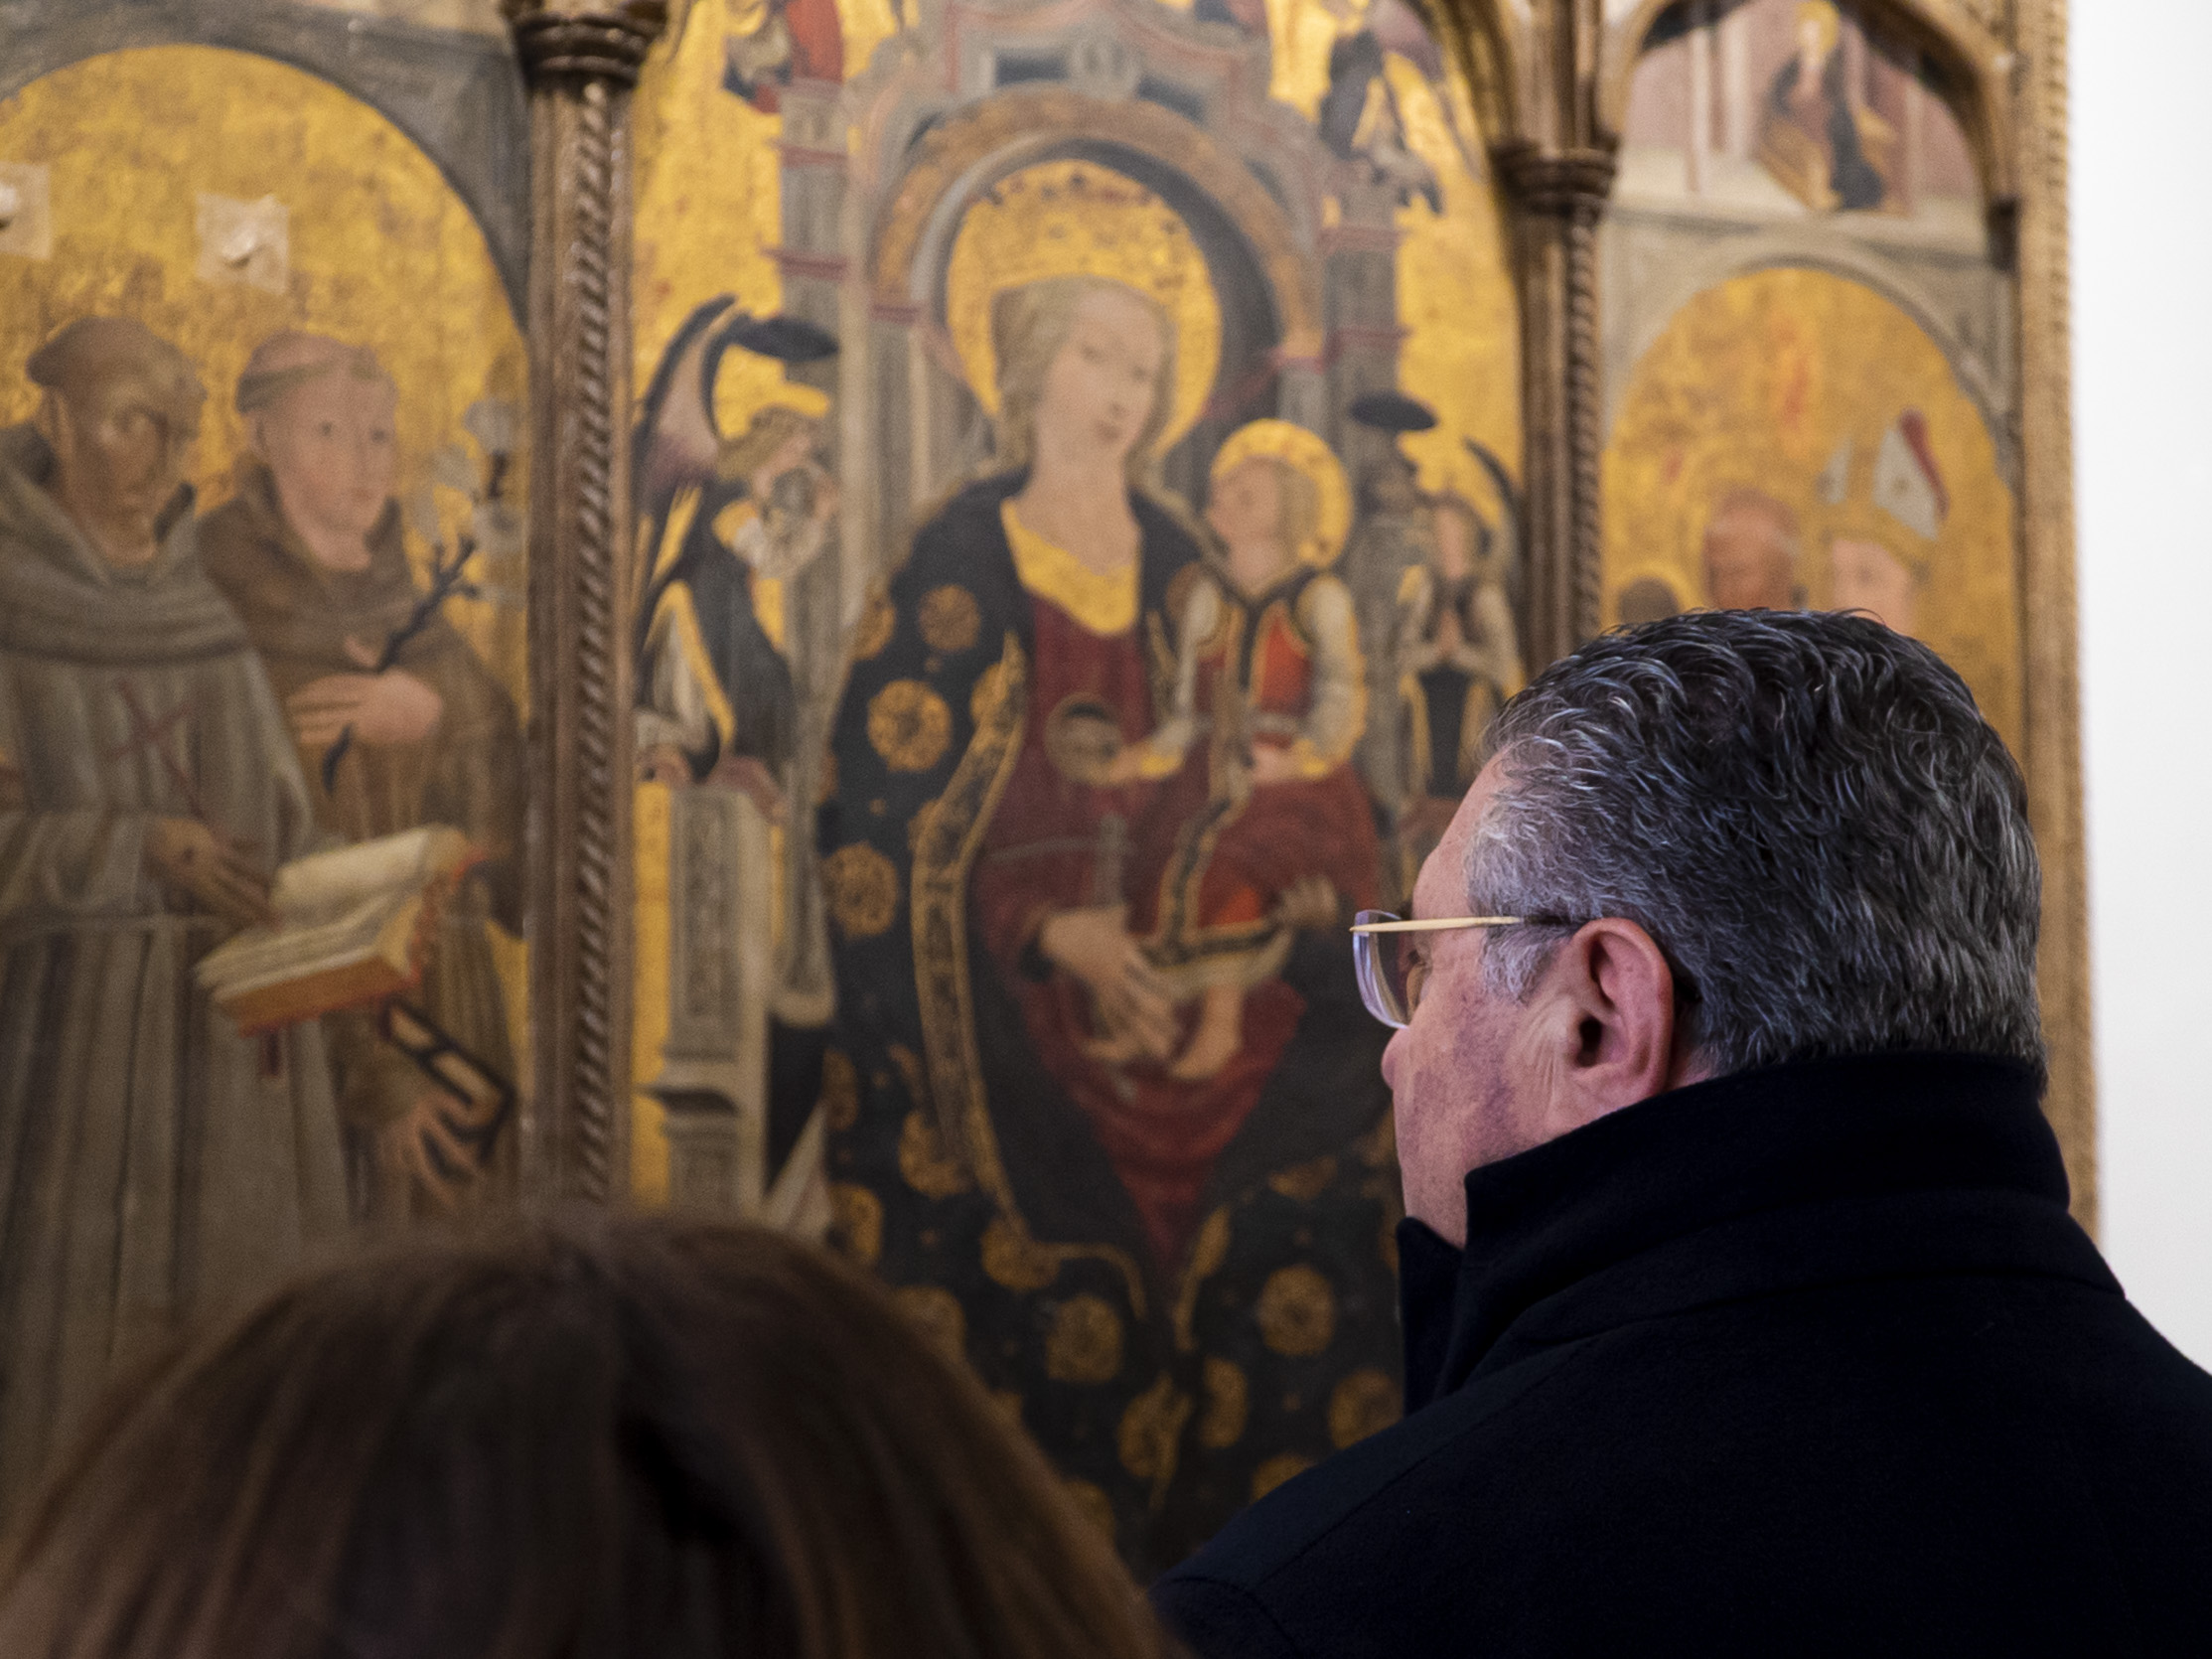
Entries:
[[1933, 66], [1849, 0], [1683, 0], [1621, 131], [1624, 197], [1761, 217], [1878, 212], [1978, 241], [1973, 150]]

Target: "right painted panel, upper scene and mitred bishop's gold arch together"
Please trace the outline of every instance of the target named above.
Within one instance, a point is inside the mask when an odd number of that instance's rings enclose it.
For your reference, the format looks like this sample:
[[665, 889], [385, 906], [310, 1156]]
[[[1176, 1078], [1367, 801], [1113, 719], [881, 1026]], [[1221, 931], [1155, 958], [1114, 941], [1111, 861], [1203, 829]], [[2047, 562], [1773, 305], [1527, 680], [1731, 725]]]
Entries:
[[1692, 0], [1604, 226], [1604, 622], [1865, 611], [2022, 734], [2011, 272], [1955, 80], [1874, 13]]

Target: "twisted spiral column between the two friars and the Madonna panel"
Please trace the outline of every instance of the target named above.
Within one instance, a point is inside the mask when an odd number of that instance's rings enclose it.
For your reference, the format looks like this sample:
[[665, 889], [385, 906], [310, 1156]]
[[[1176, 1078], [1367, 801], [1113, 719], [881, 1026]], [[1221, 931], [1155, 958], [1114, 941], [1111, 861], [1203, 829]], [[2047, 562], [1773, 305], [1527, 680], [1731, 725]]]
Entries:
[[531, 88], [533, 1192], [628, 1190], [630, 115], [666, 4], [507, 0]]

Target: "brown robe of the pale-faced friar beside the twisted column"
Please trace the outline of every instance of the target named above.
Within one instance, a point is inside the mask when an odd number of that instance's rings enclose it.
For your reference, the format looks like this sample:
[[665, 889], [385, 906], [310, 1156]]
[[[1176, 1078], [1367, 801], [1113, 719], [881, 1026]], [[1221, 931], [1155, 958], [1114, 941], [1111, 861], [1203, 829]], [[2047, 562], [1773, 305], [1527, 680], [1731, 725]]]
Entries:
[[[358, 675], [347, 655], [354, 639], [383, 650], [420, 597], [407, 568], [398, 507], [385, 509], [369, 533], [363, 571], [316, 562], [285, 524], [268, 467], [248, 465], [239, 493], [199, 524], [199, 555], [261, 653], [279, 699], [325, 675]], [[323, 750], [301, 748], [316, 823], [345, 841], [369, 841], [425, 823], [460, 830], [482, 863], [447, 905], [436, 949], [422, 975], [422, 1011], [500, 1077], [513, 1079], [513, 1040], [491, 938], [498, 920], [522, 931], [522, 814], [526, 770], [522, 721], [507, 688], [460, 630], [434, 617], [400, 650], [398, 668], [438, 692], [438, 730], [418, 743], [354, 741], [338, 763], [336, 787], [323, 787]], [[376, 1037], [369, 1015], [330, 1022], [338, 1108], [356, 1141], [376, 1124], [405, 1115], [429, 1086], [407, 1055]], [[513, 1172], [513, 1126], [495, 1148], [495, 1186]], [[405, 1212], [405, 1183], [376, 1170], [365, 1146], [354, 1157], [356, 1197], [374, 1214]]]

